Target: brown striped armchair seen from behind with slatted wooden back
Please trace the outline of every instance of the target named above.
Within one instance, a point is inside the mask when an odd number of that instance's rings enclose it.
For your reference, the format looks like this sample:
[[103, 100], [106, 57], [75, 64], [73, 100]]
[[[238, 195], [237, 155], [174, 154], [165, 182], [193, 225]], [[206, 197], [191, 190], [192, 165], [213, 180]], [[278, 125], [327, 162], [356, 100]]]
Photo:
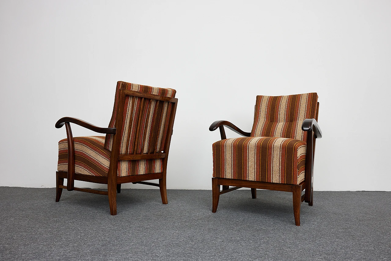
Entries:
[[[63, 189], [109, 196], [111, 215], [117, 214], [121, 184], [133, 182], [160, 187], [167, 204], [166, 170], [178, 99], [173, 89], [119, 81], [109, 128], [64, 117], [56, 128], [66, 127], [59, 141], [56, 202]], [[106, 136], [73, 137], [70, 123]], [[64, 179], [67, 179], [64, 186]], [[159, 179], [159, 184], [145, 180]], [[107, 184], [108, 191], [78, 188], [75, 180]]]

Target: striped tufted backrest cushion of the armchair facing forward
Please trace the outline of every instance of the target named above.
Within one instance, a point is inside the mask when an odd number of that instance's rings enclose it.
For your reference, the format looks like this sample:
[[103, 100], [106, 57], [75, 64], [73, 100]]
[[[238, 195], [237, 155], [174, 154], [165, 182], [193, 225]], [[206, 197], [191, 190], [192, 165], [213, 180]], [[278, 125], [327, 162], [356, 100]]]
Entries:
[[251, 137], [278, 137], [306, 141], [305, 119], [315, 119], [317, 94], [256, 96]]

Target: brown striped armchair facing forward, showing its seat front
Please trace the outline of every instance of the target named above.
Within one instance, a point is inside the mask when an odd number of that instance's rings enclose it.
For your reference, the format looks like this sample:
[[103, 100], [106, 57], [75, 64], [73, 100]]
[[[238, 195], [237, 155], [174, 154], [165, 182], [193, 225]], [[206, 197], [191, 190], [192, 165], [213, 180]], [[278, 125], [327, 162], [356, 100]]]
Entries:
[[[313, 204], [315, 139], [322, 137], [318, 112], [316, 93], [257, 96], [251, 133], [228, 121], [213, 122], [209, 130], [219, 128], [221, 140], [212, 146], [212, 212], [217, 210], [220, 194], [241, 187], [251, 188], [253, 198], [256, 189], [289, 191], [295, 223], [300, 226], [301, 202]], [[245, 137], [226, 139], [223, 126]]]

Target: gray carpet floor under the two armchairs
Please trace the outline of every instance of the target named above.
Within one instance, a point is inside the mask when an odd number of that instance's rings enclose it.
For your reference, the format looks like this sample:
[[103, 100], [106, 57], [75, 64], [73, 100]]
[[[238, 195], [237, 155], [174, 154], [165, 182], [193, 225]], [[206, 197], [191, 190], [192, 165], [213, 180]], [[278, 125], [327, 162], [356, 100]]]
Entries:
[[1, 260], [391, 260], [391, 192], [314, 192], [294, 223], [292, 193], [122, 189], [108, 198], [0, 187]]

